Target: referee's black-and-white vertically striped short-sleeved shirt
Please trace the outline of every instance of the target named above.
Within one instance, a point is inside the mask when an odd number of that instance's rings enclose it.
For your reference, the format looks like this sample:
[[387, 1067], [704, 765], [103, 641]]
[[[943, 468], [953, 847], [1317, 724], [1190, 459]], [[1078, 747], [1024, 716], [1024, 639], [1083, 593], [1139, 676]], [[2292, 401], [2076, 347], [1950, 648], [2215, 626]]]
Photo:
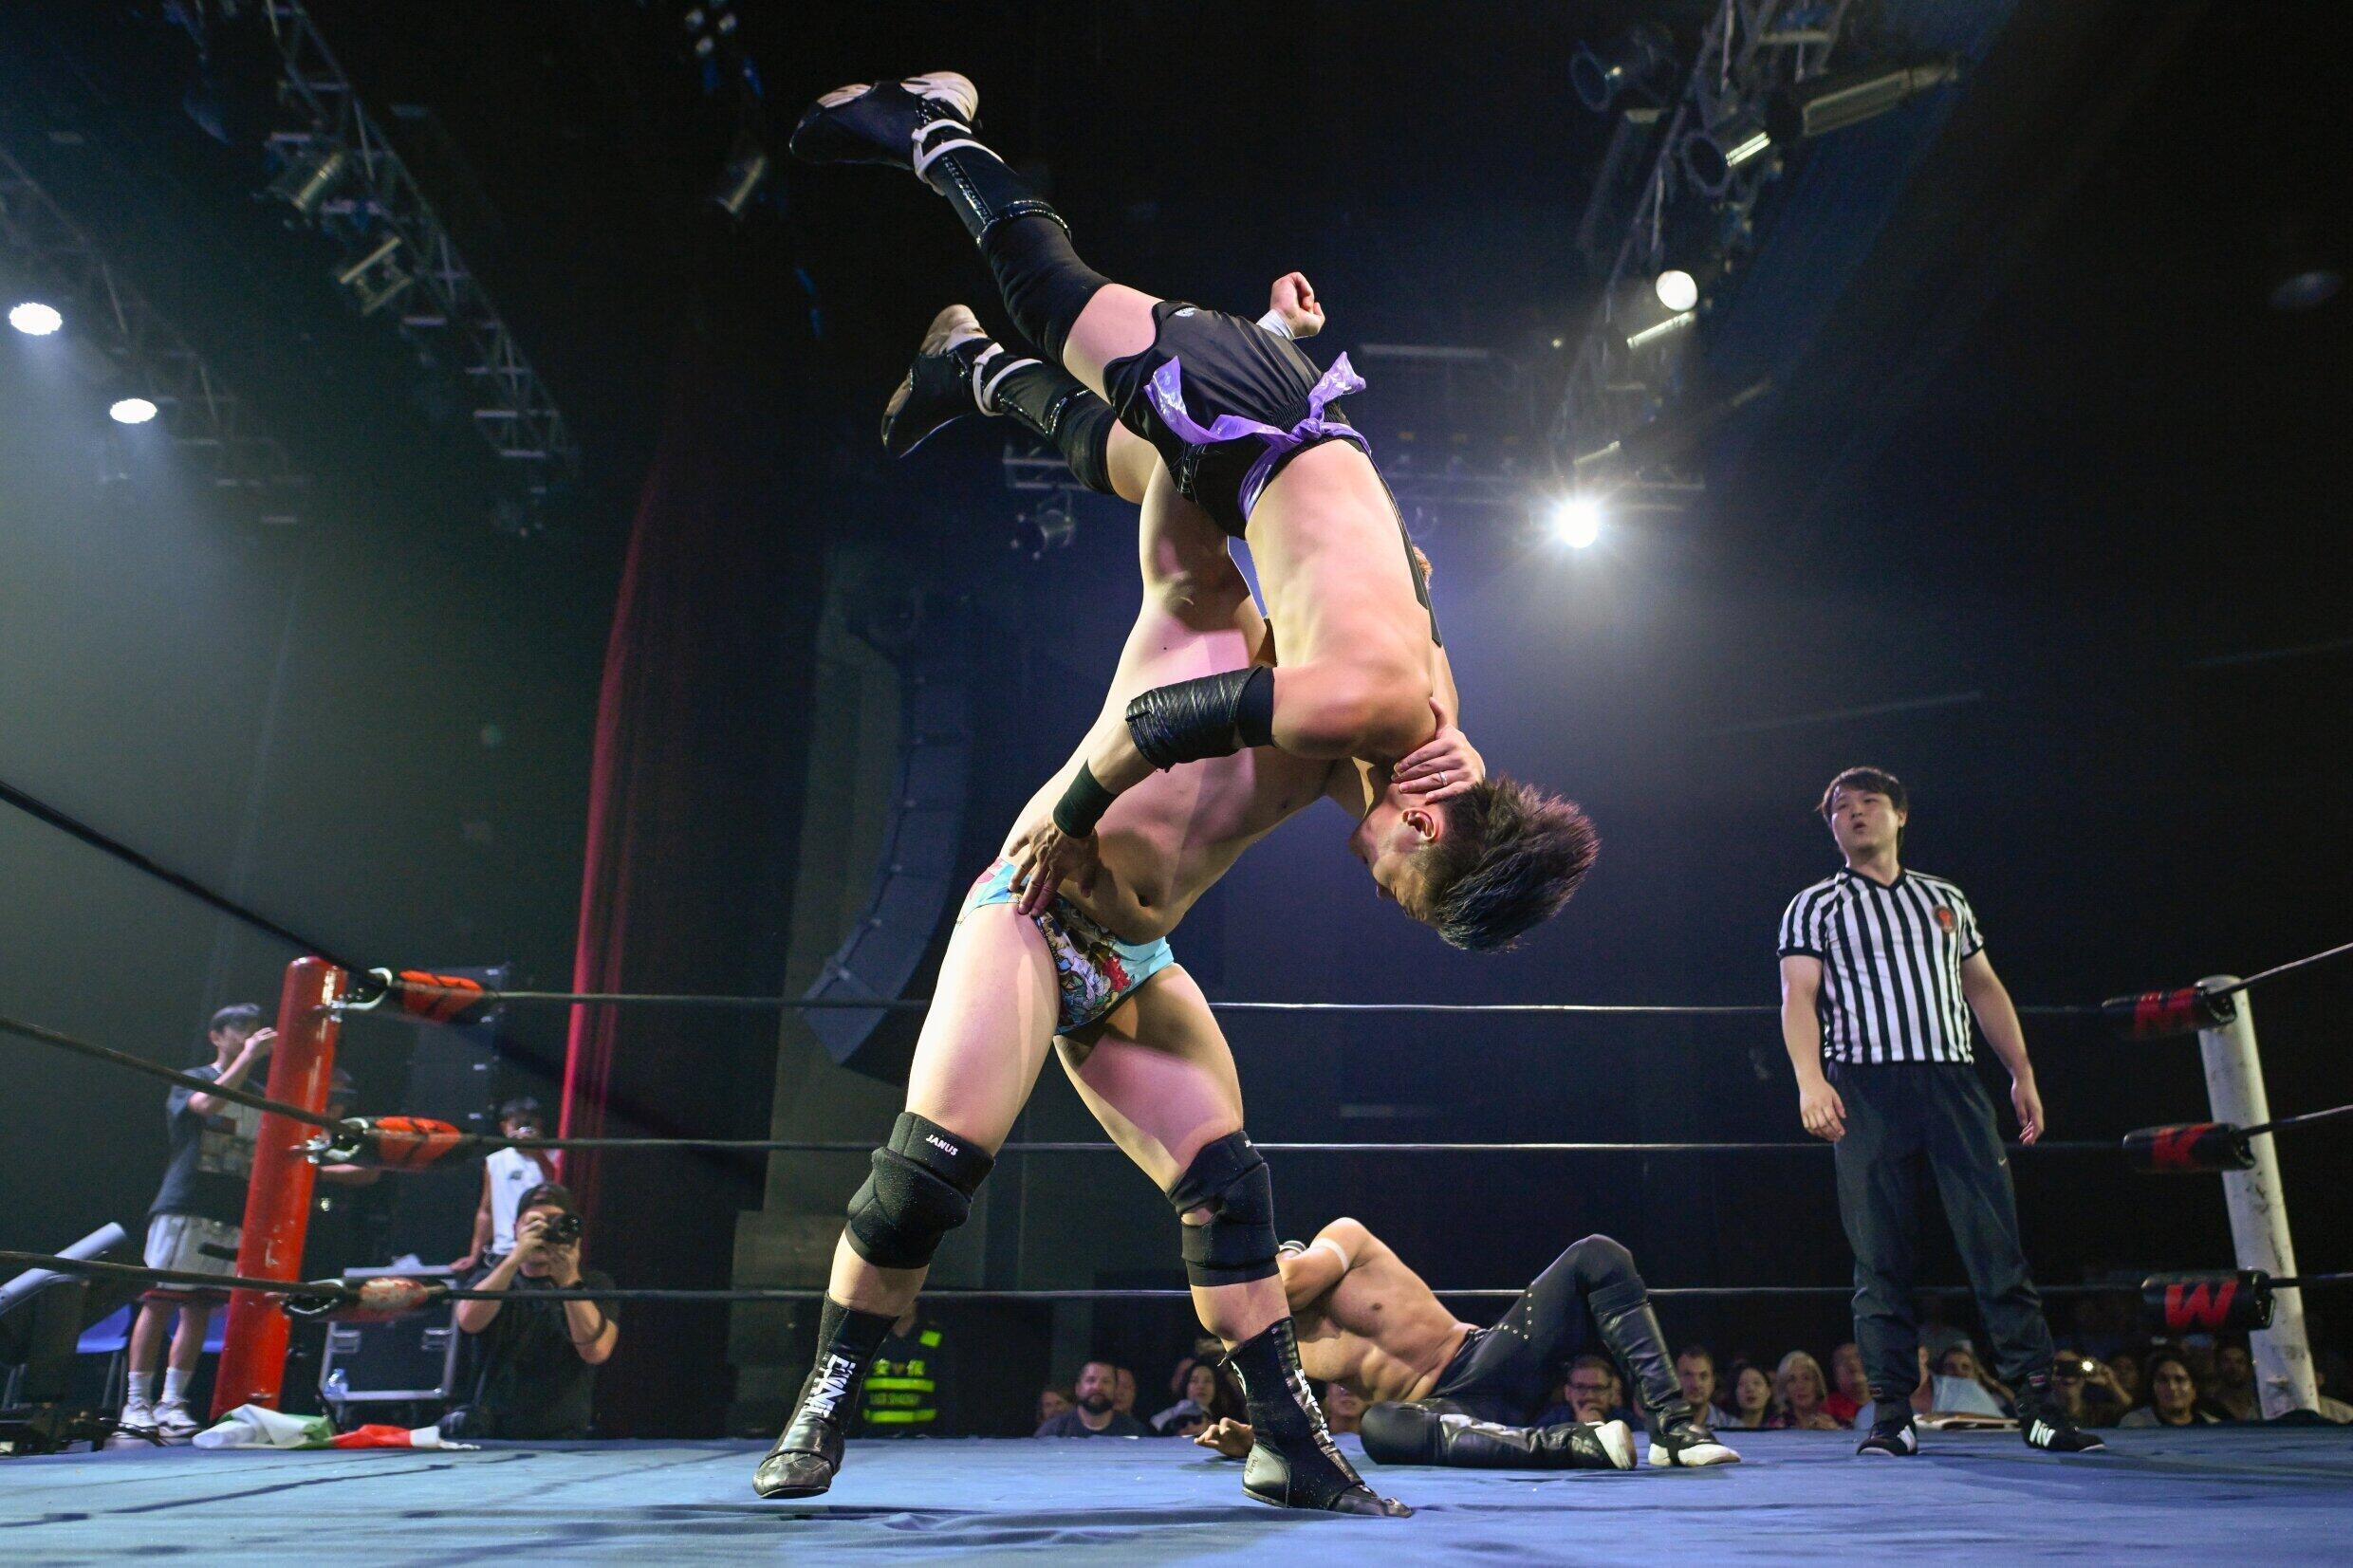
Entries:
[[1960, 961], [1984, 950], [1977, 912], [1941, 877], [1894, 886], [1840, 867], [1788, 900], [1781, 957], [1821, 959], [1821, 1056], [1831, 1063], [1969, 1063]]

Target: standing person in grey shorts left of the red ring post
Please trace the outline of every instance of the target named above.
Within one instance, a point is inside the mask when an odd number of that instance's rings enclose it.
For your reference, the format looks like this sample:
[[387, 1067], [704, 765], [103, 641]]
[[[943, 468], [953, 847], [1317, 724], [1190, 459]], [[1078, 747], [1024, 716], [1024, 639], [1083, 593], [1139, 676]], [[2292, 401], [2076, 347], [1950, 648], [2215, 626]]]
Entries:
[[[261, 1027], [261, 1009], [252, 1001], [224, 1006], [205, 1030], [209, 1060], [188, 1067], [191, 1077], [221, 1088], [259, 1088], [247, 1084], [278, 1044], [278, 1030]], [[245, 1182], [254, 1171], [254, 1131], [261, 1112], [235, 1105], [200, 1088], [174, 1086], [162, 1103], [172, 1133], [172, 1154], [162, 1185], [148, 1206], [146, 1265], [184, 1274], [235, 1274], [238, 1244], [245, 1239]], [[188, 1385], [195, 1363], [205, 1359], [205, 1335], [212, 1309], [224, 1293], [191, 1286], [155, 1286], [139, 1298], [132, 1324], [127, 1394], [122, 1427], [127, 1432], [186, 1441], [205, 1429], [188, 1410]], [[172, 1349], [162, 1349], [172, 1314]], [[155, 1392], [155, 1361], [165, 1361], [162, 1394]]]

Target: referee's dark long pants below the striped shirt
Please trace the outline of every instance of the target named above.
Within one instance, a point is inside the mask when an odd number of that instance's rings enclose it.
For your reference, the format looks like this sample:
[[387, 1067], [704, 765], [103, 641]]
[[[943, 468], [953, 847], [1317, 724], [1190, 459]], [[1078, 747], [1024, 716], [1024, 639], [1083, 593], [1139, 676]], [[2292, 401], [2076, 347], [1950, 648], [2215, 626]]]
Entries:
[[1977, 1070], [1965, 1063], [1828, 1063], [1828, 1079], [1847, 1107], [1847, 1135], [1835, 1145], [1838, 1215], [1854, 1248], [1854, 1342], [1864, 1349], [1873, 1399], [1901, 1401], [1920, 1387], [1913, 1288], [1922, 1166], [1937, 1178], [1998, 1375], [2017, 1387], [2049, 1371], [2052, 1331], [2019, 1248], [2009, 1152]]

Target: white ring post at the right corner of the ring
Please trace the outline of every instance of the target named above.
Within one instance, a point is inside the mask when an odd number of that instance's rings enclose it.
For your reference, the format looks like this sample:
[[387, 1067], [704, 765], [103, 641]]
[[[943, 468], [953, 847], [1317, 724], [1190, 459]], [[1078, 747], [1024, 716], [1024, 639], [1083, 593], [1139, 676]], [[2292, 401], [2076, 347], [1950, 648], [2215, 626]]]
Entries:
[[[2238, 976], [2212, 976], [2202, 990], [2238, 985]], [[2264, 1058], [2254, 1048], [2254, 1009], [2247, 992], [2233, 997], [2238, 1016], [2219, 1030], [2198, 1030], [2198, 1053], [2205, 1056], [2207, 1103], [2217, 1121], [2254, 1126], [2271, 1121], [2264, 1095]], [[2287, 1194], [2280, 1190], [2278, 1138], [2254, 1138], [2254, 1171], [2224, 1171], [2221, 1192], [2231, 1204], [2231, 1244], [2238, 1267], [2264, 1269], [2275, 1279], [2297, 1272], [2297, 1246], [2287, 1237]], [[2273, 1298], [2271, 1328], [2252, 1335], [2254, 1385], [2264, 1399], [2264, 1418], [2289, 1410], [2318, 1410], [2320, 1385], [2313, 1378], [2313, 1345], [2304, 1335], [2304, 1291], [2280, 1291]]]

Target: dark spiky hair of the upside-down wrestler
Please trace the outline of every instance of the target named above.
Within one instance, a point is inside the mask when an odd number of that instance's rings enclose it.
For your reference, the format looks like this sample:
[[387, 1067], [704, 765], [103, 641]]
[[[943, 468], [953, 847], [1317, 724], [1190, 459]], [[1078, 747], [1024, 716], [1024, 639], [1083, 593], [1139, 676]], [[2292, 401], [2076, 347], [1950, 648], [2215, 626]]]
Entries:
[[1440, 809], [1447, 830], [1421, 851], [1431, 898], [1424, 919], [1471, 952], [1511, 947], [1558, 914], [1600, 851], [1577, 802], [1501, 773]]

